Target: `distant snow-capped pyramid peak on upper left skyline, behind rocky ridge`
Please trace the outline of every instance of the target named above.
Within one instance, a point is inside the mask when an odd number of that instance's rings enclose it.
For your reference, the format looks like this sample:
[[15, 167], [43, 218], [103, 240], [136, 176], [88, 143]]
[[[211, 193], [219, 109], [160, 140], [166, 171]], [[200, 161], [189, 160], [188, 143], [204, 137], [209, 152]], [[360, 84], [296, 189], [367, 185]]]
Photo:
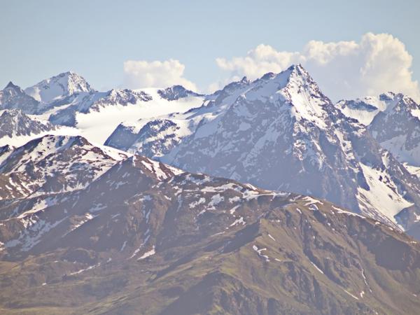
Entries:
[[73, 71], [59, 73], [57, 76], [42, 80], [25, 89], [27, 94], [43, 103], [53, 102], [79, 92], [90, 91], [93, 91], [93, 89], [85, 78]]

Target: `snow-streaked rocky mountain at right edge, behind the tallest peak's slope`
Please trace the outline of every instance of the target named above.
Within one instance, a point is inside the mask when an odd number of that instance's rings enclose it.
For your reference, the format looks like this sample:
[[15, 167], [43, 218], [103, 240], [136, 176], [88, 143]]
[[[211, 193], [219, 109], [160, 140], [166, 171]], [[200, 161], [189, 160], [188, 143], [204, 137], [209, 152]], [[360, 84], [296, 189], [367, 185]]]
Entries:
[[[410, 172], [420, 169], [420, 105], [403, 94], [381, 94], [355, 101], [340, 101], [346, 116], [367, 125], [372, 136]], [[368, 119], [367, 119], [368, 117]]]

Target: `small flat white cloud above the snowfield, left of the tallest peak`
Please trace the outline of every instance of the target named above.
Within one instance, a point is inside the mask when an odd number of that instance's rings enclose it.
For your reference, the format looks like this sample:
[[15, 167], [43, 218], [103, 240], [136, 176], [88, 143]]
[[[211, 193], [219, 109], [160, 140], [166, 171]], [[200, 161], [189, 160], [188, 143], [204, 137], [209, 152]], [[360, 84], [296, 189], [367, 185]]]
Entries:
[[189, 90], [196, 91], [195, 84], [183, 77], [185, 68], [186, 66], [176, 59], [163, 62], [128, 60], [124, 62], [124, 85], [131, 89], [183, 85]]

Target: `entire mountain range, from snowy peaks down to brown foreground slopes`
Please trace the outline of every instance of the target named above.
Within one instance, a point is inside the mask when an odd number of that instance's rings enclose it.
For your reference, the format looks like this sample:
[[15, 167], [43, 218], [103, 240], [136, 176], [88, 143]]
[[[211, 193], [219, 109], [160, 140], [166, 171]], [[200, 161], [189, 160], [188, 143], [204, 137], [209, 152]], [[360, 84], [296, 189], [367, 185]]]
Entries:
[[418, 314], [420, 106], [294, 65], [0, 91], [1, 314]]

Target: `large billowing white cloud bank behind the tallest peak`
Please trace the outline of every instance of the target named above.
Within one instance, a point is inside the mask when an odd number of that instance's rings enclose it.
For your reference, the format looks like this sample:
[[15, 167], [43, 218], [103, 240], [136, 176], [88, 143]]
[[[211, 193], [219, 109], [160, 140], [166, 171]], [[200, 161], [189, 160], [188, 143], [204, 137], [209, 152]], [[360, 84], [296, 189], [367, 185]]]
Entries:
[[367, 33], [359, 43], [309, 41], [301, 52], [277, 51], [258, 45], [245, 57], [218, 58], [216, 64], [232, 77], [254, 79], [269, 71], [280, 72], [301, 63], [331, 99], [353, 99], [382, 92], [403, 92], [420, 100], [413, 80], [412, 56], [390, 34]]

